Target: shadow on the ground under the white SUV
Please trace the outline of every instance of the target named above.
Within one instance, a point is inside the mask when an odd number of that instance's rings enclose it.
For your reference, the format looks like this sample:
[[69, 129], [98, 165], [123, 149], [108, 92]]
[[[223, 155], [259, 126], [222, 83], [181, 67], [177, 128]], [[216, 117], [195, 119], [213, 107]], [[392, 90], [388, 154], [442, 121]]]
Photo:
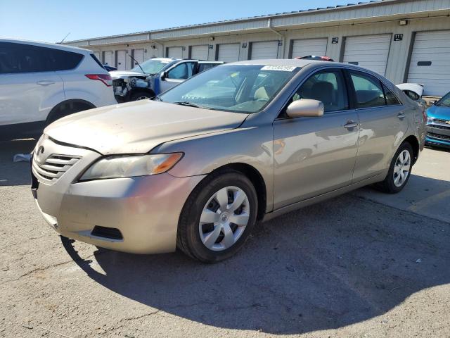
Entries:
[[30, 162], [13, 162], [13, 156], [30, 154], [36, 142], [34, 139], [0, 142], [0, 187], [30, 184]]

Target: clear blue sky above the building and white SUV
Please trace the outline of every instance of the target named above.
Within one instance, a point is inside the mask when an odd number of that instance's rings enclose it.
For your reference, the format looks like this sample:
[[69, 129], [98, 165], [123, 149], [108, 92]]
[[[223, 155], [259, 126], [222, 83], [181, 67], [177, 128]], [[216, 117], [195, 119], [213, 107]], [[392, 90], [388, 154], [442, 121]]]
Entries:
[[67, 40], [75, 40], [335, 6], [347, 1], [0, 0], [0, 37], [59, 42], [68, 32]]

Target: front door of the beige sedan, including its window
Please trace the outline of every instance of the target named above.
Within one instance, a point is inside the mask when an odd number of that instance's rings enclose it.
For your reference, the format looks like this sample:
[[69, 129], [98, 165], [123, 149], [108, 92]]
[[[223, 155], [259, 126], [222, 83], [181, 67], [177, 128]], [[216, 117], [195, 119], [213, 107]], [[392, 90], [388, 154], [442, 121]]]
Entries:
[[318, 118], [274, 121], [274, 207], [281, 208], [352, 182], [358, 116], [350, 109], [342, 70], [319, 70], [304, 81], [288, 104], [299, 99], [323, 102]]

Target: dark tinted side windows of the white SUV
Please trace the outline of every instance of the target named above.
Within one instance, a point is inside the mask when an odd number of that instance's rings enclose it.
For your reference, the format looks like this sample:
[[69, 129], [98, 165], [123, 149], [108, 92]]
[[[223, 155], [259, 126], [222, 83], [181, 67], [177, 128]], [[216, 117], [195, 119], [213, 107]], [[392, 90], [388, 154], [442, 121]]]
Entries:
[[35, 73], [76, 68], [83, 54], [29, 44], [0, 42], [0, 74]]

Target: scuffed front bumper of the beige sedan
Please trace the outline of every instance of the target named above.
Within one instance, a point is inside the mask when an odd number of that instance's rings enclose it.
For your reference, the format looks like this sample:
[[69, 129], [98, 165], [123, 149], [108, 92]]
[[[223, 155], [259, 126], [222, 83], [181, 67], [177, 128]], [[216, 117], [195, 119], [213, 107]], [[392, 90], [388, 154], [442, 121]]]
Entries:
[[[76, 182], [79, 173], [101, 155], [46, 141], [45, 147], [57, 149], [57, 154], [70, 151], [69, 154], [81, 157], [55, 182], [44, 182], [32, 170], [37, 185], [32, 187], [35, 201], [54, 230], [65, 237], [117, 251], [164, 253], [176, 249], [181, 209], [203, 175], [174, 177], [163, 173]], [[121, 238], [96, 232], [94, 228], [99, 227], [113, 229]]]

